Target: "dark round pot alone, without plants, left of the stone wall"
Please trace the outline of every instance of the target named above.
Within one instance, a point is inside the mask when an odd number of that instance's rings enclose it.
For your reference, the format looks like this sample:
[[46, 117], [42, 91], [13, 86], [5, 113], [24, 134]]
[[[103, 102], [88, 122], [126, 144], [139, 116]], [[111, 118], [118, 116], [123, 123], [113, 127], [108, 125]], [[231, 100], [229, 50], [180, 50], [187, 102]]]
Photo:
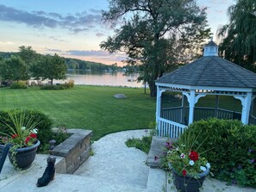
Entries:
[[34, 144], [34, 146], [28, 146], [23, 148], [16, 149], [16, 154], [14, 158], [12, 158], [12, 152], [9, 151], [9, 161], [16, 168], [20, 168], [22, 170], [28, 169], [34, 161], [37, 147], [40, 145], [40, 140]]

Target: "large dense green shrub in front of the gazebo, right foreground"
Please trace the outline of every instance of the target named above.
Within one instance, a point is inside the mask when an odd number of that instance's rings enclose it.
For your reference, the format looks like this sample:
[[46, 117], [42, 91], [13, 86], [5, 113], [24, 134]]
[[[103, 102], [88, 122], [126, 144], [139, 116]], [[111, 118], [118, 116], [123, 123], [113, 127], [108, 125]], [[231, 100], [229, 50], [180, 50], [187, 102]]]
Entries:
[[209, 119], [191, 124], [181, 139], [189, 133], [200, 133], [195, 146], [205, 140], [199, 152], [209, 150], [203, 156], [211, 164], [216, 178], [256, 187], [255, 126], [246, 126], [240, 121]]

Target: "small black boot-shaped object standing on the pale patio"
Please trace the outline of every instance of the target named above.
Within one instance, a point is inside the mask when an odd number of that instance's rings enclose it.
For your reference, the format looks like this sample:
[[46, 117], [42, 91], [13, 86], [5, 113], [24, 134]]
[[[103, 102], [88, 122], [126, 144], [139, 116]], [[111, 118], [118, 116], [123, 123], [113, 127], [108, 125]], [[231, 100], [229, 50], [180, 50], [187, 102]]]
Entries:
[[47, 158], [47, 168], [41, 178], [37, 180], [37, 187], [47, 186], [55, 176], [55, 161], [56, 158]]

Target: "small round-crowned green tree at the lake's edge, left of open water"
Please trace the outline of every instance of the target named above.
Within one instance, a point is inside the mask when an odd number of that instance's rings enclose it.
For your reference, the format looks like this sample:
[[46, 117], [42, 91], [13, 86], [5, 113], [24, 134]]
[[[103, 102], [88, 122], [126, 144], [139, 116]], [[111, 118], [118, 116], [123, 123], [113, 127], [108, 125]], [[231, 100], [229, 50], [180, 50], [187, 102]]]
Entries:
[[54, 56], [43, 56], [36, 64], [32, 65], [32, 76], [42, 79], [50, 79], [53, 85], [53, 79], [66, 78], [66, 62], [56, 53]]

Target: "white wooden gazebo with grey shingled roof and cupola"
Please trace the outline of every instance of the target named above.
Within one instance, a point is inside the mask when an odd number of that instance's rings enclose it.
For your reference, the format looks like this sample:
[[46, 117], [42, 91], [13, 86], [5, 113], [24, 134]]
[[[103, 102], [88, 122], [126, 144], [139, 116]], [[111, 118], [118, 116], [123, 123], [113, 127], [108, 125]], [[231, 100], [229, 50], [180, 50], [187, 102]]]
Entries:
[[[256, 124], [253, 99], [256, 96], [256, 74], [218, 56], [218, 46], [210, 40], [204, 46], [203, 57], [172, 71], [155, 81], [157, 86], [156, 121], [159, 136], [178, 138], [193, 121], [216, 117], [239, 119], [244, 124]], [[182, 94], [181, 106], [162, 108], [165, 91]], [[196, 108], [203, 96], [215, 96], [215, 108]], [[184, 106], [184, 96], [189, 103]], [[219, 108], [219, 96], [234, 96], [240, 100], [241, 113]]]

